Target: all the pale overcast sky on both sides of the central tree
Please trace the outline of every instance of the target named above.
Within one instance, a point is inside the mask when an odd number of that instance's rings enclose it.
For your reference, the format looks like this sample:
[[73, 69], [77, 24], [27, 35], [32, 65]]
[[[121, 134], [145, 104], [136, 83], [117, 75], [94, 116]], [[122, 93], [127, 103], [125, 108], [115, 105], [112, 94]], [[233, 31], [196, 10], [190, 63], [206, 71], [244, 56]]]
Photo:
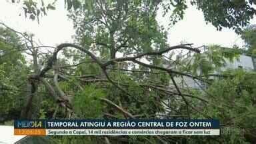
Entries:
[[[43, 45], [55, 46], [59, 43], [72, 42], [72, 35], [75, 34], [73, 23], [67, 18], [64, 1], [61, 0], [57, 1], [55, 11], [49, 11], [47, 16], [41, 17], [39, 24], [25, 18], [20, 4], [1, 0], [0, 21], [17, 31], [34, 33], [37, 37], [35, 40], [39, 39]], [[157, 21], [167, 27], [167, 19], [157, 17]], [[251, 24], [256, 24], [256, 19], [251, 20]], [[195, 47], [209, 44], [224, 47], [244, 45], [243, 40], [232, 29], [217, 31], [213, 25], [207, 25], [203, 13], [191, 6], [185, 11], [184, 19], [171, 27], [167, 33], [169, 45], [178, 45], [181, 41], [193, 43]]]

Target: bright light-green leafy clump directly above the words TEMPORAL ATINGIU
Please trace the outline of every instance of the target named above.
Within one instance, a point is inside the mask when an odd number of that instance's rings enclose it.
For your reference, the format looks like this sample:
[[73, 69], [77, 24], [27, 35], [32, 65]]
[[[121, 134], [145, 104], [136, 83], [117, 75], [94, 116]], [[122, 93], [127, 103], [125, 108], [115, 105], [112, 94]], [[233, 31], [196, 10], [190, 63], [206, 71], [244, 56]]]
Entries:
[[105, 95], [105, 91], [95, 87], [95, 85], [85, 86], [84, 90], [78, 91], [73, 98], [75, 113], [80, 118], [102, 117], [104, 106], [100, 98], [105, 97]]

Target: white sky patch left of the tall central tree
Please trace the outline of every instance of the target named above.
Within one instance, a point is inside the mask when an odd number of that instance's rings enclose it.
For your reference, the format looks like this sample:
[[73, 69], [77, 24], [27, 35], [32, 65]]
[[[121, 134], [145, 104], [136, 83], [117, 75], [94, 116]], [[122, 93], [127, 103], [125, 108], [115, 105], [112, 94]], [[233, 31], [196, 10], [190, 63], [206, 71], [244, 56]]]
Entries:
[[[10, 0], [9, 0], [10, 1]], [[50, 0], [51, 1], [51, 0]], [[19, 14], [21, 13], [21, 16]], [[56, 3], [55, 11], [48, 11], [47, 16], [40, 18], [40, 23], [25, 18], [21, 4], [7, 3], [0, 0], [0, 21], [16, 31], [35, 34], [43, 45], [55, 46], [64, 42], [72, 42], [75, 34], [73, 23], [67, 18], [64, 1]]]

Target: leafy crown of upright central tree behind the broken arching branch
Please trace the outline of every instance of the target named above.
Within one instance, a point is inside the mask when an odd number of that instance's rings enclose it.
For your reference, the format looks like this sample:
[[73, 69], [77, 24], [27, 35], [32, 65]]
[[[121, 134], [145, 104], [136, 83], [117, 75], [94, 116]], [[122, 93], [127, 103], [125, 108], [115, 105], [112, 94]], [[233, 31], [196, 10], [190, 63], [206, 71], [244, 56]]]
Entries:
[[103, 59], [118, 52], [149, 52], [165, 49], [166, 33], [159, 27], [154, 1], [85, 1], [71, 11], [76, 41], [99, 51]]

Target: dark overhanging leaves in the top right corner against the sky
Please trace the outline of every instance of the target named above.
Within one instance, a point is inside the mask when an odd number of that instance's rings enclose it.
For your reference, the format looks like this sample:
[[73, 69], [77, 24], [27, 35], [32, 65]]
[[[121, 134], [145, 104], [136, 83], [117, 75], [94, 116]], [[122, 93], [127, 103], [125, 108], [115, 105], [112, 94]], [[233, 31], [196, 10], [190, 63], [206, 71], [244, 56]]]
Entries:
[[237, 33], [249, 25], [250, 19], [256, 13], [255, 1], [222, 1], [193, 0], [193, 5], [203, 11], [205, 21], [213, 24], [218, 30], [223, 27], [235, 29]]

